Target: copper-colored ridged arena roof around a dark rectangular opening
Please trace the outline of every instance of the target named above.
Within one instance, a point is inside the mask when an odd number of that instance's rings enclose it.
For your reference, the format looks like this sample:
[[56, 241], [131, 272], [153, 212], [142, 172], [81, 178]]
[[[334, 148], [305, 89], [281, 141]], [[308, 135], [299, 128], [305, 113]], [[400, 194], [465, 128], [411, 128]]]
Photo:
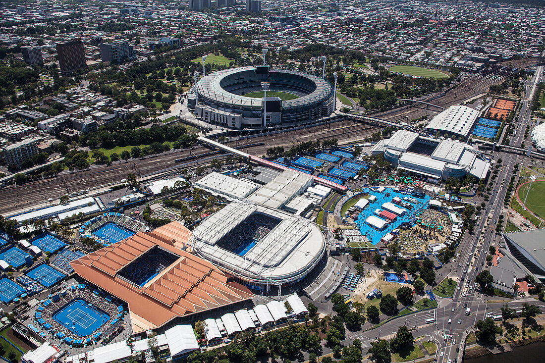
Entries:
[[[153, 232], [104, 247], [71, 262], [83, 279], [127, 302], [134, 332], [158, 328], [175, 317], [202, 312], [253, 297], [250, 289], [235, 282], [208, 261], [182, 250], [189, 229], [171, 222]], [[180, 256], [143, 287], [118, 273], [155, 246]]]

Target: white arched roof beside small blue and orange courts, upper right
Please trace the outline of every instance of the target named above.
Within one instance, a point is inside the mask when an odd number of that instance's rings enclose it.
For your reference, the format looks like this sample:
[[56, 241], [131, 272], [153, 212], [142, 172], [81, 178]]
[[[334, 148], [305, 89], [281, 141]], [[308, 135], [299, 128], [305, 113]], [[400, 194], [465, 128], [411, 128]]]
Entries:
[[479, 111], [467, 106], [450, 106], [434, 116], [426, 129], [467, 137], [479, 116]]

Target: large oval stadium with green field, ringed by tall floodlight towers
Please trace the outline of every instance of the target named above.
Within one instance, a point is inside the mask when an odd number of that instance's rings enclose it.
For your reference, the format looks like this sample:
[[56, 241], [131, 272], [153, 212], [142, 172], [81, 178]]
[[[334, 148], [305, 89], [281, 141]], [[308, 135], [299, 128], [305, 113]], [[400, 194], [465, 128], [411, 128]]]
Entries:
[[[266, 105], [263, 82], [269, 83]], [[194, 96], [189, 106], [197, 118], [237, 129], [305, 122], [329, 116], [334, 107], [329, 82], [267, 65], [213, 72], [197, 81]]]

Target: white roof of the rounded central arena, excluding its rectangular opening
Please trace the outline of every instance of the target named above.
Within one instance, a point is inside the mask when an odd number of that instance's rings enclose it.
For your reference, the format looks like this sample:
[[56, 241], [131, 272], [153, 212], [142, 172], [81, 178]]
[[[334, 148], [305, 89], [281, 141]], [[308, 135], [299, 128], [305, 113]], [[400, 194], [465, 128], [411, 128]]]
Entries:
[[[244, 256], [216, 243], [252, 213], [280, 219]], [[217, 211], [193, 231], [193, 250], [223, 270], [255, 283], [297, 281], [312, 269], [325, 251], [322, 232], [310, 221], [278, 209], [234, 201]]]

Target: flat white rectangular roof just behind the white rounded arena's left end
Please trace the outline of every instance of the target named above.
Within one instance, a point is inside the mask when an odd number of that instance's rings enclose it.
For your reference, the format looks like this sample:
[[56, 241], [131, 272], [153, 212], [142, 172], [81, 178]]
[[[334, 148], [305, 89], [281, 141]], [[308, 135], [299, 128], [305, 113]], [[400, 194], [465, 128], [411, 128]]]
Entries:
[[220, 194], [227, 198], [245, 198], [255, 191], [259, 185], [245, 179], [230, 177], [212, 172], [195, 183], [199, 188]]

